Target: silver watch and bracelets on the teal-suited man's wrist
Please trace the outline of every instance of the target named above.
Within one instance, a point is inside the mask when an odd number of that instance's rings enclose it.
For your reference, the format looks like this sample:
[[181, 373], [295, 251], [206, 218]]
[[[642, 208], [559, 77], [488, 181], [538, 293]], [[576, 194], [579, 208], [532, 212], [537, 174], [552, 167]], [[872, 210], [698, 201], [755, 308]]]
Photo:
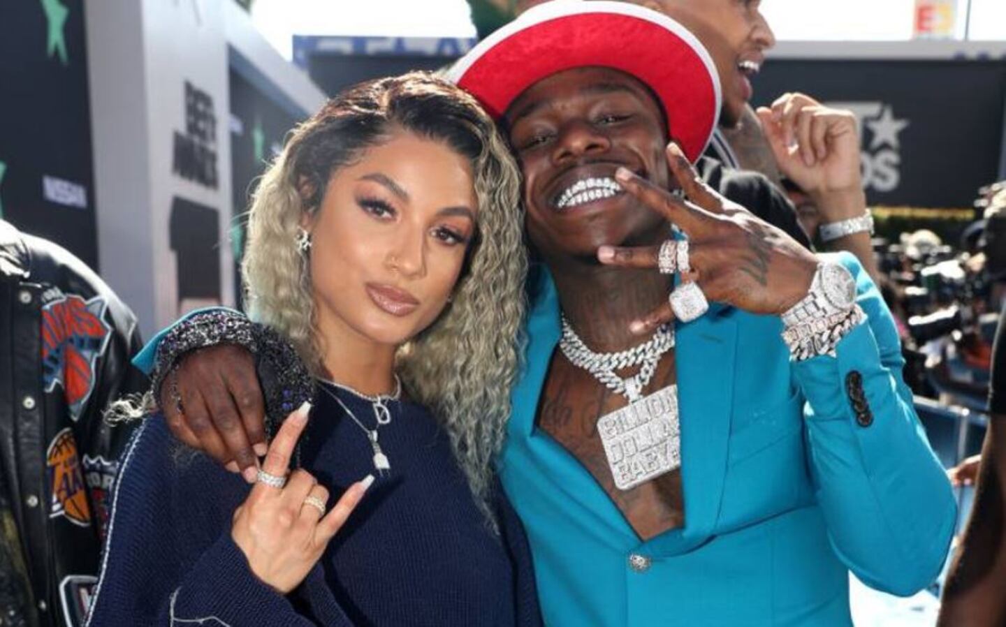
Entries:
[[783, 340], [795, 359], [834, 355], [838, 342], [864, 320], [855, 278], [838, 263], [818, 264], [807, 295], [782, 319]]

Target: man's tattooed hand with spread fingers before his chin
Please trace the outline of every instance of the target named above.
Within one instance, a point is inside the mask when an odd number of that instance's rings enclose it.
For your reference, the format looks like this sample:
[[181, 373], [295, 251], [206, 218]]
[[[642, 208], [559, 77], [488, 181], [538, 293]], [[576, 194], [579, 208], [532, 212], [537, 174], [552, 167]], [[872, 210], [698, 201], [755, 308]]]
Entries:
[[[783, 230], [760, 220], [707, 186], [675, 144], [667, 147], [671, 173], [688, 200], [620, 168], [625, 190], [666, 216], [688, 235], [692, 272], [709, 300], [752, 314], [782, 314], [807, 294], [818, 259]], [[660, 246], [602, 246], [598, 259], [625, 267], [656, 270]], [[630, 325], [635, 334], [653, 332], [674, 318], [669, 302]]]

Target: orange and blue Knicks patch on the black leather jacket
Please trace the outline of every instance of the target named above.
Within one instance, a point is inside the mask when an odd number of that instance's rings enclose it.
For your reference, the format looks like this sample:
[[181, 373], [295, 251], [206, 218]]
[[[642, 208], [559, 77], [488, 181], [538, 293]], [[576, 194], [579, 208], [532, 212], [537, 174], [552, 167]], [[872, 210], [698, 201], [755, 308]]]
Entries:
[[74, 422], [95, 389], [95, 363], [112, 338], [108, 306], [101, 296], [69, 294], [42, 307], [42, 382], [46, 392], [62, 387]]

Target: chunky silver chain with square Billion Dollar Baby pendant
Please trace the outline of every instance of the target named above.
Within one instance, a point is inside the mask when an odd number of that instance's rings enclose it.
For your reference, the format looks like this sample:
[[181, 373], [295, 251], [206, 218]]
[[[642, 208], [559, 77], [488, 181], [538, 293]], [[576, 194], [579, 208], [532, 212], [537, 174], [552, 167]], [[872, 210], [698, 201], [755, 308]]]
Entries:
[[[619, 353], [595, 353], [562, 317], [559, 349], [569, 363], [594, 375], [629, 404], [598, 419], [608, 467], [621, 490], [631, 489], [681, 465], [678, 388], [670, 385], [643, 396], [660, 359], [674, 348], [674, 327], [661, 326], [648, 342]], [[617, 370], [640, 366], [632, 377]]]

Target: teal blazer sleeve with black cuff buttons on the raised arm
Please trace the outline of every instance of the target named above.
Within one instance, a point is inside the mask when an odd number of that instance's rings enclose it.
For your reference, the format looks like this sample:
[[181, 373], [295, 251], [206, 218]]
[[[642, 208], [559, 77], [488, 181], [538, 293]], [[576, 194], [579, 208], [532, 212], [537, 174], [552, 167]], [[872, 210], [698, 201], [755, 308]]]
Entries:
[[871, 587], [907, 596], [943, 568], [957, 505], [901, 378], [890, 312], [855, 257], [834, 256], [856, 277], [867, 320], [835, 357], [794, 364], [811, 472], [838, 556]]

